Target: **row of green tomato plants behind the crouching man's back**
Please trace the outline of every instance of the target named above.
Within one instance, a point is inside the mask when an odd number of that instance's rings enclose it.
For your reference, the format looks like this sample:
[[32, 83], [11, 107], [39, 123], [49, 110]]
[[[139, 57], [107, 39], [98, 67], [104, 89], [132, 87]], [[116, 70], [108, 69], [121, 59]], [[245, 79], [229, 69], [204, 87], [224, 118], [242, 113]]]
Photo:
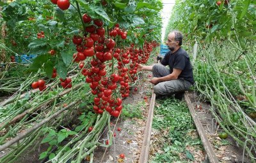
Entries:
[[184, 33], [189, 53], [193, 53], [193, 45], [198, 46], [192, 59], [195, 90], [211, 103], [217, 123], [245, 148], [252, 162], [251, 146], [256, 137], [255, 7], [254, 1], [242, 0], [177, 1], [168, 25], [169, 31]]

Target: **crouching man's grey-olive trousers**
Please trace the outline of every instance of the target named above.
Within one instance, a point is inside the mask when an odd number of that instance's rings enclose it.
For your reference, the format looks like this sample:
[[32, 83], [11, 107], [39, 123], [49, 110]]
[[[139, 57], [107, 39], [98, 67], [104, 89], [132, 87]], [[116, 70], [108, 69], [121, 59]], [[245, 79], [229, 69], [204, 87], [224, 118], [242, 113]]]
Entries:
[[[152, 69], [154, 77], [163, 77], [170, 74], [170, 69], [162, 64], [155, 64]], [[184, 92], [188, 90], [191, 83], [187, 80], [178, 78], [177, 80], [163, 81], [154, 86], [154, 93], [156, 96], [168, 96]]]

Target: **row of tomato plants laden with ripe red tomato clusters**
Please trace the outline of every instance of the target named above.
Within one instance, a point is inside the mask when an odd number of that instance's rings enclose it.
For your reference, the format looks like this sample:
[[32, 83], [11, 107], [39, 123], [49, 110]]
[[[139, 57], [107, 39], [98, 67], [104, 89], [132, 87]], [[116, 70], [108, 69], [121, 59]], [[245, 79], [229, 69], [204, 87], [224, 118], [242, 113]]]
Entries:
[[[138, 80], [138, 64], [147, 63], [158, 45], [161, 8], [153, 0], [20, 0], [3, 6], [7, 35], [1, 47], [9, 56], [21, 51], [38, 57], [29, 66], [33, 77], [2, 103], [0, 149], [22, 143], [1, 162], [15, 162], [44, 135], [49, 148], [40, 160], [47, 162], [82, 162], [88, 156], [93, 162], [97, 146], [111, 145], [113, 136], [100, 143], [100, 133], [106, 125], [110, 132], [110, 117], [120, 116], [122, 99]], [[43, 71], [45, 77], [36, 75]], [[35, 95], [20, 99], [29, 87]], [[75, 108], [84, 110], [78, 124], [67, 127], [69, 115], [76, 119]]]

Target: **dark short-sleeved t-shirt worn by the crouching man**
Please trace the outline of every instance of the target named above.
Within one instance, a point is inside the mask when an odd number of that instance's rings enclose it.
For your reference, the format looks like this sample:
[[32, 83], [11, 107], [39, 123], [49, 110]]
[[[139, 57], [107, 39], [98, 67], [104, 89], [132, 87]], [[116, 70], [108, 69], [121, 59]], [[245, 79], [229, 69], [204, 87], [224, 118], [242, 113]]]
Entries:
[[188, 53], [179, 48], [176, 52], [172, 53], [171, 51], [166, 53], [164, 59], [161, 60], [161, 64], [164, 66], [169, 65], [170, 67], [170, 74], [175, 69], [181, 69], [181, 73], [178, 78], [184, 78], [184, 80], [188, 80], [191, 84], [194, 83], [193, 78], [193, 68], [189, 60]]

